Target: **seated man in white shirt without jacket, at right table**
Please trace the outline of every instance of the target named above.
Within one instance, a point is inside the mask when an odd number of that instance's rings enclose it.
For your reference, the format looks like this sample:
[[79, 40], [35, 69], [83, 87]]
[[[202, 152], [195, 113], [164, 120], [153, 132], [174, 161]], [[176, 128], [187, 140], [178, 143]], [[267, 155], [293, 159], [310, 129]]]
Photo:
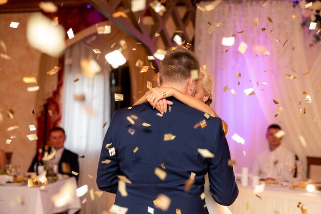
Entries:
[[294, 154], [281, 144], [281, 127], [272, 124], [268, 127], [266, 139], [269, 148], [258, 155], [252, 167], [253, 175], [264, 178], [289, 178], [293, 177], [295, 169]]

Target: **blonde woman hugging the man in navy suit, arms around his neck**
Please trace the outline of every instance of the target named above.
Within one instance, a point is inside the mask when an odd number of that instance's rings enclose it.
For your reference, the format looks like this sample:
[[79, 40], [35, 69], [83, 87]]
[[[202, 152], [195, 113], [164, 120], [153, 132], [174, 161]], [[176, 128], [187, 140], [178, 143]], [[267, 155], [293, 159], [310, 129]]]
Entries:
[[[180, 92], [173, 87], [152, 88], [150, 91], [146, 92], [146, 94], [141, 99], [136, 101], [134, 105], [142, 104], [148, 101], [153, 107], [155, 107], [163, 114], [167, 111], [167, 105], [173, 104], [172, 102], [167, 101], [164, 98], [173, 96], [175, 99], [190, 107], [196, 108], [197, 110], [206, 112], [208, 114], [218, 116], [215, 113], [215, 111], [209, 106], [213, 101], [212, 85], [213, 78], [210, 76], [209, 71], [201, 67], [197, 78], [194, 97]], [[164, 91], [166, 91], [166, 94], [163, 94]], [[228, 125], [223, 120], [222, 125], [225, 135], [227, 135]], [[205, 176], [204, 192], [206, 195], [206, 206], [210, 214], [232, 214], [232, 212], [229, 210], [227, 206], [222, 206], [214, 201], [210, 191], [210, 185], [207, 174]]]

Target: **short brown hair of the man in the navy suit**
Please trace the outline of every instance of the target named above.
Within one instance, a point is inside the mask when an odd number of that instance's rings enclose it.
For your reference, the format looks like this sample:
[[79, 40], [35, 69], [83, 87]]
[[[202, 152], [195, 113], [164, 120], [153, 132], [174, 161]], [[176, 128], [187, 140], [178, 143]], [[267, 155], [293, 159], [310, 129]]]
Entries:
[[159, 65], [160, 84], [182, 83], [191, 76], [191, 70], [199, 72], [199, 61], [192, 51], [183, 47], [168, 50]]

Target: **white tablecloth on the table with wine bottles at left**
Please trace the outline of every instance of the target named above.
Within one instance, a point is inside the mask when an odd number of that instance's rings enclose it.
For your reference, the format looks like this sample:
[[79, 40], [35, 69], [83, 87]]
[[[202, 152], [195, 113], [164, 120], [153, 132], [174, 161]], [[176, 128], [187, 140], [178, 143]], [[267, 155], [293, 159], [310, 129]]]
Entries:
[[[46, 185], [44, 190], [26, 185], [0, 186], [0, 214], [52, 214], [67, 210], [69, 214], [75, 213], [81, 208], [78, 197], [68, 205], [59, 208], [55, 207], [51, 201], [51, 197], [58, 193], [66, 182], [73, 183], [75, 189], [77, 188], [75, 178], [58, 180]], [[23, 199], [23, 203], [19, 203], [19, 199]]]

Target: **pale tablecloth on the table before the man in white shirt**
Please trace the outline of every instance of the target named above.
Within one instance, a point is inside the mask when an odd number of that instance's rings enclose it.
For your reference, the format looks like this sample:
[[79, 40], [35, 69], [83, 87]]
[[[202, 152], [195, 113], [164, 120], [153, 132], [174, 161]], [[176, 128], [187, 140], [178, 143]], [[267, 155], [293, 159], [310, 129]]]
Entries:
[[264, 192], [257, 193], [260, 200], [253, 193], [253, 188], [241, 187], [238, 184], [239, 194], [235, 202], [229, 206], [233, 214], [302, 214], [297, 207], [298, 202], [305, 204], [308, 214], [321, 214], [321, 192], [307, 192], [293, 190], [289, 186], [266, 186]]

